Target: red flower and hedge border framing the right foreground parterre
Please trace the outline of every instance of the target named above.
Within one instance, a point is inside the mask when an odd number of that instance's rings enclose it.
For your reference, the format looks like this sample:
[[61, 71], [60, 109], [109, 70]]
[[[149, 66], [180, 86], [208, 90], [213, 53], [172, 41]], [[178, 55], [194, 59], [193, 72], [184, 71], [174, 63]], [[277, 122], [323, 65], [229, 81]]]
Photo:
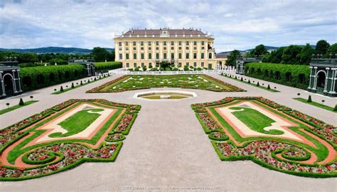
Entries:
[[[307, 132], [311, 132], [321, 139], [326, 140], [329, 144], [331, 144], [331, 147], [333, 147], [335, 151], [337, 148], [336, 127], [321, 122], [319, 119], [315, 119], [314, 117], [310, 117], [309, 115], [303, 114], [296, 110], [291, 110], [289, 107], [279, 105], [276, 102], [267, 100], [263, 97], [225, 97], [223, 100], [218, 100], [215, 102], [191, 105], [191, 108], [196, 112], [196, 116], [205, 130], [205, 133], [208, 134], [209, 139], [217, 141], [213, 141], [213, 146], [215, 147], [215, 151], [217, 151], [218, 155], [220, 156], [220, 159], [224, 161], [250, 159], [255, 161], [257, 164], [265, 166], [269, 169], [282, 171], [284, 173], [294, 174], [297, 176], [337, 176], [336, 159], [329, 160], [328, 163], [324, 164], [313, 163], [316, 160], [311, 159], [311, 153], [313, 150], [314, 154], [316, 154], [318, 158], [328, 158], [324, 157], [326, 155], [322, 156], [321, 154], [329, 153], [328, 151], [321, 151], [328, 148], [310, 148], [311, 152], [309, 152], [307, 150], [307, 147], [309, 147], [308, 145], [301, 144], [301, 142], [294, 142], [291, 139], [288, 140], [280, 138], [279, 140], [274, 140], [275, 137], [265, 136], [260, 137], [260, 139], [259, 137], [256, 137], [256, 139], [237, 138], [238, 134], [232, 134], [232, 132], [235, 132], [235, 129], [228, 129], [228, 126], [230, 126], [228, 122], [223, 124], [223, 119], [218, 119], [220, 118], [219, 116], [213, 115], [213, 112], [216, 112], [214, 110], [215, 107], [223, 107], [223, 105], [235, 105], [235, 103], [237, 103], [234, 102], [235, 100], [238, 102], [240, 102], [240, 100], [252, 100], [256, 103], [260, 102], [261, 106], [267, 105], [271, 107], [270, 110], [273, 109], [279, 111], [279, 113], [282, 113], [284, 118], [287, 118], [293, 122], [296, 120], [291, 119], [291, 117], [295, 117], [302, 122], [306, 122], [307, 124], [312, 125], [312, 127], [297, 127], [296, 132], [301, 132], [301, 130], [298, 129], [305, 129]], [[234, 103], [231, 104], [230, 102]], [[213, 118], [218, 119], [218, 121], [215, 121]], [[218, 124], [219, 122], [221, 124]], [[292, 127], [292, 129], [295, 131], [294, 128], [296, 127]], [[237, 144], [235, 144], [232, 139], [229, 139], [225, 132], [223, 132], [223, 129], [228, 129], [228, 132], [232, 135], [236, 142], [242, 146], [237, 146]], [[301, 134], [306, 134], [306, 132], [301, 132]], [[311, 138], [311, 142], [313, 142], [314, 137], [308, 136], [306, 138]], [[318, 142], [318, 140], [314, 140]], [[328, 147], [326, 144], [324, 145], [325, 147]], [[306, 163], [304, 164], [302, 161], [306, 161]]]

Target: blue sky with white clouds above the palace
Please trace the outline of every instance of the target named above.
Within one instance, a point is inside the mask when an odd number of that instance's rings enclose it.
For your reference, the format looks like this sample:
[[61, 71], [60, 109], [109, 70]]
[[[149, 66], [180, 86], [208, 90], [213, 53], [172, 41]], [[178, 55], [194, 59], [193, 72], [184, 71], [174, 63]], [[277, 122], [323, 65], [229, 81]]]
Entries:
[[113, 47], [129, 28], [201, 28], [215, 50], [337, 42], [337, 1], [0, 0], [0, 48]]

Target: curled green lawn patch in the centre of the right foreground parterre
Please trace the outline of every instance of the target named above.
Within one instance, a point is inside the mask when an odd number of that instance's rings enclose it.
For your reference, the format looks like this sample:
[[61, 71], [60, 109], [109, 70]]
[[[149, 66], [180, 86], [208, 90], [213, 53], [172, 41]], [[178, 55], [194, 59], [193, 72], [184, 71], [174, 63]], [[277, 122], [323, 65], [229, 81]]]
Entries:
[[250, 129], [256, 132], [263, 134], [284, 134], [284, 132], [277, 129], [271, 129], [269, 131], [264, 130], [264, 127], [271, 126], [274, 120], [258, 112], [257, 110], [247, 107], [230, 107], [230, 110], [237, 110], [232, 112], [232, 114], [234, 114], [237, 119], [240, 119], [241, 122], [247, 125], [247, 127], [250, 127]]

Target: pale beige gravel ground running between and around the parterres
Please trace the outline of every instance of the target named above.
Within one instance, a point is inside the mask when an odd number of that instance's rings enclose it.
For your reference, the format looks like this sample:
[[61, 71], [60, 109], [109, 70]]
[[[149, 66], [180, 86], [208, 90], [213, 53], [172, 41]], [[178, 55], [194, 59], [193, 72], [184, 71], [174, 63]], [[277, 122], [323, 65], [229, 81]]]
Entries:
[[[1, 128], [71, 98], [100, 98], [113, 102], [139, 104], [141, 110], [114, 163], [85, 163], [75, 169], [52, 176], [28, 181], [0, 182], [0, 191], [22, 191], [23, 189], [25, 191], [117, 191], [130, 188], [144, 188], [144, 191], [149, 191], [151, 188], [157, 188], [152, 191], [169, 191], [170, 188], [172, 190], [178, 188], [181, 191], [188, 191], [188, 187], [200, 187], [200, 191], [202, 188], [210, 187], [213, 191], [336, 191], [337, 178], [304, 178], [270, 171], [252, 161], [220, 161], [190, 107], [193, 103], [211, 102], [228, 96], [262, 96], [336, 126], [336, 113], [292, 99], [297, 97], [297, 93], [307, 98], [309, 92], [258, 80], [260, 85], [270, 84], [280, 91], [268, 92], [220, 75], [212, 75], [213, 78], [241, 87], [247, 92], [188, 90], [196, 92], [198, 97], [169, 101], [133, 98], [135, 93], [146, 90], [85, 93], [93, 87], [120, 76], [114, 75], [60, 95], [50, 95], [54, 88], [60, 87], [56, 85], [1, 100], [0, 108], [6, 107], [6, 102], [16, 105], [19, 97], [23, 97], [26, 101], [30, 100], [30, 95], [33, 95], [34, 100], [40, 100], [32, 105], [1, 114]], [[250, 80], [255, 79], [250, 78]], [[70, 83], [63, 85], [70, 85]], [[154, 88], [151, 90], [181, 89]], [[325, 104], [331, 107], [337, 102], [337, 98], [310, 95], [314, 101], [325, 100]]]

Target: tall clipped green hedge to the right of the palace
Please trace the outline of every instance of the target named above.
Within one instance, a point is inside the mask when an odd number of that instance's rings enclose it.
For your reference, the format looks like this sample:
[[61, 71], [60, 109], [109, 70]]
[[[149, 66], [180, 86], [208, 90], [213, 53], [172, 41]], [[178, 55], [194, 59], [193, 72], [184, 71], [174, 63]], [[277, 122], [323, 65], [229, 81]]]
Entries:
[[309, 65], [279, 63], [247, 63], [245, 75], [306, 90], [309, 86]]

